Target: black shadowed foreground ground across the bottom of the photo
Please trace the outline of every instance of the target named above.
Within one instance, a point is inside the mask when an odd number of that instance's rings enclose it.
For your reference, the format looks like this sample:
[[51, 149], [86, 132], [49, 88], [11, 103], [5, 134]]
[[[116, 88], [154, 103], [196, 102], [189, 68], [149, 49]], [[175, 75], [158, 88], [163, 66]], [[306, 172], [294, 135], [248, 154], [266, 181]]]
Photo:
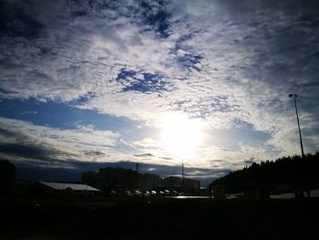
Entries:
[[0, 239], [319, 239], [319, 199], [0, 198]]

